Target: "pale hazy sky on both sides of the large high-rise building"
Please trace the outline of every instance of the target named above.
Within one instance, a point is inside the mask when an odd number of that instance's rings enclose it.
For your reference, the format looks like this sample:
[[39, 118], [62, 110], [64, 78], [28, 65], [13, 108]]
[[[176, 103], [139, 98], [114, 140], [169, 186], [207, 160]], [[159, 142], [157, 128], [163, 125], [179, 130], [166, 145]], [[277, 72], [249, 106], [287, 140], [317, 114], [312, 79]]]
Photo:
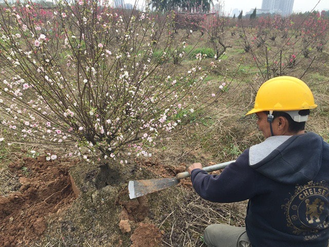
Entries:
[[[226, 13], [232, 12], [233, 9], [243, 10], [243, 13], [254, 8], [262, 8], [262, 0], [219, 0], [224, 5]], [[213, 0], [213, 3], [218, 3], [218, 0]], [[319, 3], [319, 4], [318, 4]], [[317, 5], [318, 4], [318, 5]], [[317, 5], [317, 6], [316, 6]], [[316, 6], [316, 7], [315, 7]], [[305, 12], [310, 11], [315, 7], [315, 10], [329, 9], [329, 0], [295, 0], [293, 11]]]

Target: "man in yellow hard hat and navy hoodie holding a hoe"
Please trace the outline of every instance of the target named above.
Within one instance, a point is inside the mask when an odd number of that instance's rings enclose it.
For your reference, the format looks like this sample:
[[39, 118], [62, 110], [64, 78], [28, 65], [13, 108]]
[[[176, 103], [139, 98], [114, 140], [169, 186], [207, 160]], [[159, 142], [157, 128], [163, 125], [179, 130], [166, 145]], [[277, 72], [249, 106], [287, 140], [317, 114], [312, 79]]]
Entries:
[[265, 141], [245, 150], [220, 175], [188, 168], [194, 189], [213, 202], [248, 200], [245, 227], [222, 224], [205, 230], [208, 246], [327, 247], [329, 238], [329, 144], [306, 133], [308, 86], [294, 77], [266, 81], [255, 98]]

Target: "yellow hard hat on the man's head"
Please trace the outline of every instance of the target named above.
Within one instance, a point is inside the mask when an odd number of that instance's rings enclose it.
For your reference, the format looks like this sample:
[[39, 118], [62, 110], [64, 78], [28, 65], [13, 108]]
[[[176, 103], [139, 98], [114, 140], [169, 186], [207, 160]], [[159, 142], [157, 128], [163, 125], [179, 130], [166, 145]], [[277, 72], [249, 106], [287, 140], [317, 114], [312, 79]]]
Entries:
[[263, 111], [306, 110], [317, 106], [312, 92], [302, 80], [291, 76], [279, 76], [261, 85], [254, 107], [246, 115]]

